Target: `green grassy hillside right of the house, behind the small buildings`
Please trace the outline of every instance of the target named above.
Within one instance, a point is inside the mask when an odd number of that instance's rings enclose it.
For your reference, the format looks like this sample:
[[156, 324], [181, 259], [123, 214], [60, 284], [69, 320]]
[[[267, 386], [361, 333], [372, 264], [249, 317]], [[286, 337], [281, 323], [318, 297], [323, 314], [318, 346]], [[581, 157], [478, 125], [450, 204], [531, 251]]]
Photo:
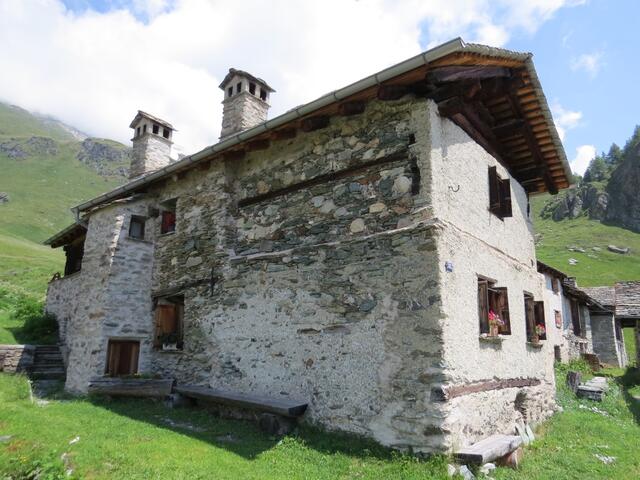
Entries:
[[[541, 218], [540, 212], [549, 195], [532, 198], [532, 215], [537, 234], [538, 259], [566, 274], [576, 277], [578, 285], [591, 287], [613, 285], [617, 281], [640, 280], [640, 235], [630, 230], [604, 225], [579, 217], [555, 222]], [[629, 247], [629, 254], [620, 255], [607, 250], [607, 245]], [[572, 252], [568, 247], [585, 249], [585, 253]], [[600, 251], [593, 250], [600, 248]], [[569, 265], [569, 259], [578, 260]]]

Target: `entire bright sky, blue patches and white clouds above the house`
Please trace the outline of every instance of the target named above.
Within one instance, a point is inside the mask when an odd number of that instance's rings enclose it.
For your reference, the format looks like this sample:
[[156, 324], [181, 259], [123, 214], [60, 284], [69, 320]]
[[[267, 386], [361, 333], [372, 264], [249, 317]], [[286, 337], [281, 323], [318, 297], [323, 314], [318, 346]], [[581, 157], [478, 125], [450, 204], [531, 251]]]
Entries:
[[[338, 14], [339, 13], [339, 14]], [[530, 51], [579, 173], [640, 111], [636, 0], [0, 0], [0, 100], [128, 143], [138, 108], [215, 143], [231, 66], [270, 116], [456, 36]]]

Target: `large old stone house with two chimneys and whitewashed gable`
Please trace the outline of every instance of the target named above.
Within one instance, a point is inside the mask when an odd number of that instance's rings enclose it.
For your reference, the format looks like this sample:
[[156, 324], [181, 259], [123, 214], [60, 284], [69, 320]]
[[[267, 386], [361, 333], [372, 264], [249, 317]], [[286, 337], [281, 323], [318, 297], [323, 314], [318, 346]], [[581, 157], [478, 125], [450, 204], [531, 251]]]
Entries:
[[172, 127], [140, 112], [146, 167], [48, 241], [67, 389], [139, 372], [286, 396], [415, 452], [547, 418], [528, 197], [570, 170], [531, 55], [456, 39], [272, 120], [264, 81], [227, 80], [221, 142], [159, 167]]

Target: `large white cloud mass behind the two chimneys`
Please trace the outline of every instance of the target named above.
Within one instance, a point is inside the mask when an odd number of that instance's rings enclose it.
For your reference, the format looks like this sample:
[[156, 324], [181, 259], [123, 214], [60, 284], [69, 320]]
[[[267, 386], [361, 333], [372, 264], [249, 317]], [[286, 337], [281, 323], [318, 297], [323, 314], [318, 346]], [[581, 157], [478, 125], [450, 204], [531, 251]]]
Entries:
[[130, 0], [126, 9], [118, 0], [98, 13], [58, 0], [0, 0], [0, 99], [125, 143], [140, 108], [176, 125], [189, 153], [217, 141], [218, 84], [229, 67], [277, 90], [273, 117], [402, 61], [421, 43], [460, 35], [503, 46], [575, 3]]

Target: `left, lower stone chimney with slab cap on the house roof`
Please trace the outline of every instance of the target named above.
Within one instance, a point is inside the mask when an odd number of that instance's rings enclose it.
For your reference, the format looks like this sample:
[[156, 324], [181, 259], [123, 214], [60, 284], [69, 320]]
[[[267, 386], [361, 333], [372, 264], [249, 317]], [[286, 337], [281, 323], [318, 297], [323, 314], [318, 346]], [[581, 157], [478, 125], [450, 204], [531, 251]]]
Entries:
[[129, 128], [133, 128], [130, 179], [169, 165], [174, 131], [169, 122], [138, 110]]

